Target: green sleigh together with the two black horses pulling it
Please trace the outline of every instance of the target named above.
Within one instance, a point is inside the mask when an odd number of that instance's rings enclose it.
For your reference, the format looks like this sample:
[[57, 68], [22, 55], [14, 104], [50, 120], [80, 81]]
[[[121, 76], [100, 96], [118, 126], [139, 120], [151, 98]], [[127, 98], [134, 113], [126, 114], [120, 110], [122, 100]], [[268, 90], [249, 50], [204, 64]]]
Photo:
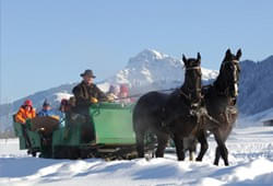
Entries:
[[[52, 130], [48, 137], [50, 140], [39, 127], [34, 129], [34, 120], [28, 120], [31, 149], [25, 146], [21, 124], [14, 123], [20, 149], [28, 149], [33, 155], [39, 152], [40, 156], [54, 159], [133, 159], [143, 158], [146, 150], [156, 148], [155, 155], [161, 158], [169, 138], [173, 138], [178, 160], [183, 160], [183, 142], [192, 139], [189, 141], [198, 140], [201, 143], [197, 161], [202, 161], [207, 150], [206, 133], [210, 131], [217, 142], [214, 164], [217, 165], [222, 156], [225, 165], [228, 165], [225, 141], [237, 118], [240, 56], [240, 50], [233, 55], [228, 49], [217, 79], [209, 86], [201, 83], [200, 54], [190, 59], [183, 56], [185, 82], [173, 93], [150, 92], [141, 96], [136, 105], [94, 104], [90, 107], [88, 117], [70, 115], [66, 118], [66, 127]], [[84, 139], [86, 131], [88, 136], [90, 121], [94, 125], [92, 132], [95, 140]], [[156, 136], [157, 146], [151, 133]]]

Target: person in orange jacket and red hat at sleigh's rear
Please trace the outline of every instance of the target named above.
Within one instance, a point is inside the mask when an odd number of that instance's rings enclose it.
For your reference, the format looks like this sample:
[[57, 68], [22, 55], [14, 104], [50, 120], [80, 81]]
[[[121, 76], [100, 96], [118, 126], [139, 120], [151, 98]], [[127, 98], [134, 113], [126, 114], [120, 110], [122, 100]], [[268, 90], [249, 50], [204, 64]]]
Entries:
[[36, 116], [35, 108], [31, 100], [26, 100], [24, 104], [20, 107], [17, 114], [15, 115], [15, 121], [20, 124], [25, 124], [26, 119], [32, 119]]

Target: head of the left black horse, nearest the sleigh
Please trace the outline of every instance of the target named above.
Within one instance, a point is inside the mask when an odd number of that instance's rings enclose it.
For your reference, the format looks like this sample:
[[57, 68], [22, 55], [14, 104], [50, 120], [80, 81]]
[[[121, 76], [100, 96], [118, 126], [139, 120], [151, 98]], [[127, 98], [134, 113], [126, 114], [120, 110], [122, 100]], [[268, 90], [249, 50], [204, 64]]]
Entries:
[[200, 103], [201, 101], [201, 55], [198, 53], [197, 58], [187, 59], [182, 56], [186, 74], [183, 85], [180, 88], [182, 94], [190, 101], [191, 104]]

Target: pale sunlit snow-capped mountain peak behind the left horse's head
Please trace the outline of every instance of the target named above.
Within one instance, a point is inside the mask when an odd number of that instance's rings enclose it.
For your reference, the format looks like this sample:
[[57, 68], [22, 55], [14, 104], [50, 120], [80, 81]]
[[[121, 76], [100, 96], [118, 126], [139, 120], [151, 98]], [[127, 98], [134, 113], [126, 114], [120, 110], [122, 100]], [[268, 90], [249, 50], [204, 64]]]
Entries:
[[[215, 79], [217, 71], [202, 68], [204, 81]], [[127, 83], [133, 93], [180, 86], [185, 70], [181, 59], [152, 49], [145, 49], [131, 58], [127, 67], [107, 79], [110, 83]]]

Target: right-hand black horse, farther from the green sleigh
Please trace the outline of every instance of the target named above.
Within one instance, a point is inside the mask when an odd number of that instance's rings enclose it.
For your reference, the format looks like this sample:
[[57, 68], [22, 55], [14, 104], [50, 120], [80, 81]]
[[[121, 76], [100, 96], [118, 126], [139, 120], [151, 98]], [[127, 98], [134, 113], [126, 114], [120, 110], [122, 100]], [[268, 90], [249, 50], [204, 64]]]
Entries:
[[[235, 55], [227, 49], [225, 58], [222, 62], [219, 74], [213, 85], [203, 86], [204, 102], [210, 116], [217, 120], [218, 125], [214, 125], [209, 129], [217, 142], [214, 164], [218, 165], [219, 156], [223, 158], [225, 165], [228, 165], [228, 151], [225, 144], [234, 124], [236, 121], [238, 111], [236, 108], [236, 100], [238, 96], [239, 82], [239, 59], [241, 50]], [[210, 123], [210, 120], [206, 120]], [[201, 143], [201, 150], [197, 161], [202, 161], [207, 150], [206, 130], [199, 130], [198, 140]]]

